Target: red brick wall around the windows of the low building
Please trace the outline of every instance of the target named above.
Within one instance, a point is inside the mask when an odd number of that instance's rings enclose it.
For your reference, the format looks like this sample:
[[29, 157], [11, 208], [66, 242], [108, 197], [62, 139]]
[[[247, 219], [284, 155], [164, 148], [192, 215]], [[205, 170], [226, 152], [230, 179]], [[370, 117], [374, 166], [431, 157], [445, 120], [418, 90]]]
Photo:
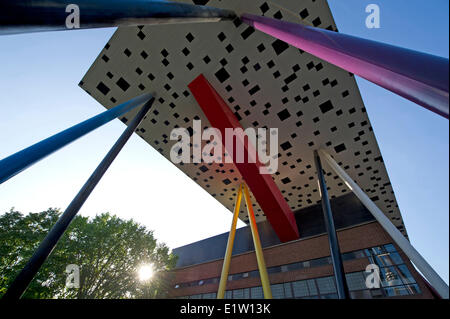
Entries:
[[[339, 245], [342, 253], [370, 248], [383, 244], [394, 243], [391, 237], [383, 230], [377, 222], [338, 231]], [[395, 244], [394, 244], [395, 245]], [[396, 245], [395, 245], [396, 246]], [[422, 293], [400, 298], [433, 298], [433, 294], [426, 286], [422, 277], [411, 265], [405, 254], [397, 247], [397, 251], [403, 258], [405, 264], [415, 278]], [[286, 265], [299, 261], [306, 261], [330, 255], [328, 238], [326, 235], [319, 235], [310, 238], [300, 239], [285, 244], [280, 244], [264, 249], [264, 258], [267, 267]], [[181, 287], [175, 289], [175, 284], [199, 281], [202, 279], [220, 277], [223, 260], [214, 260], [203, 264], [179, 268], [174, 271], [174, 280], [170, 297], [190, 296], [201, 293], [217, 292], [218, 284], [205, 284], [194, 287]], [[344, 262], [346, 273], [364, 271], [369, 264], [367, 258], [355, 259]], [[257, 270], [255, 253], [248, 252], [234, 256], [231, 260], [230, 275]], [[331, 265], [314, 268], [299, 269], [290, 272], [280, 272], [270, 274], [270, 283], [284, 283], [296, 280], [324, 277], [333, 275]], [[259, 278], [245, 278], [227, 283], [227, 290], [249, 288], [260, 286]], [[398, 297], [397, 297], [398, 298]]]

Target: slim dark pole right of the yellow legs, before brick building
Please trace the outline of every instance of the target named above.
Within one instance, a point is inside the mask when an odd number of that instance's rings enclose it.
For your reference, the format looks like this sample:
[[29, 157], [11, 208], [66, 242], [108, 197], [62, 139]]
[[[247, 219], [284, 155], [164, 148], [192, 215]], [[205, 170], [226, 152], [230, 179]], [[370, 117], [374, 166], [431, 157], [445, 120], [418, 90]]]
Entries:
[[325, 227], [328, 233], [328, 242], [330, 244], [331, 260], [333, 262], [334, 278], [339, 299], [349, 299], [347, 281], [345, 279], [344, 264], [342, 263], [341, 251], [339, 249], [339, 240], [334, 227], [333, 212], [331, 211], [330, 199], [328, 197], [327, 184], [323, 175], [322, 163], [317, 151], [314, 151], [314, 161], [316, 163], [317, 177], [319, 181], [319, 190], [322, 200], [322, 211], [325, 220]]

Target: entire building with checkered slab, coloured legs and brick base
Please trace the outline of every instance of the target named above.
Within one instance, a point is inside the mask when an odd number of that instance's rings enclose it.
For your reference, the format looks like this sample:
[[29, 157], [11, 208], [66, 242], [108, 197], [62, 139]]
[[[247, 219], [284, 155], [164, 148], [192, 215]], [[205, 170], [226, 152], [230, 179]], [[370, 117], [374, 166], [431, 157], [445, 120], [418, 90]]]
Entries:
[[[65, 5], [6, 3], [0, 33], [67, 30]], [[408, 240], [352, 73], [448, 119], [448, 59], [338, 33], [326, 0], [80, 6], [82, 28], [119, 26], [79, 83], [107, 110], [1, 160], [0, 183], [115, 118], [127, 128], [6, 298], [23, 294], [134, 132], [233, 212], [229, 233], [174, 250], [170, 297], [448, 298]]]

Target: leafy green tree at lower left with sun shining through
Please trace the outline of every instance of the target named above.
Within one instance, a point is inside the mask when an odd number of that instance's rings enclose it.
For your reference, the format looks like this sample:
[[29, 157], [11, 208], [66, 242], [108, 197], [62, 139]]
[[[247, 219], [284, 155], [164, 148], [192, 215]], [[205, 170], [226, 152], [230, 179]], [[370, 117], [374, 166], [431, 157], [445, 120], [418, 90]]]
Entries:
[[[3, 295], [61, 212], [48, 209], [0, 216], [0, 296]], [[109, 213], [77, 216], [28, 287], [24, 298], [163, 298], [176, 258], [153, 232]], [[80, 287], [66, 288], [66, 266], [80, 269]], [[138, 270], [152, 265], [155, 275], [140, 281]]]

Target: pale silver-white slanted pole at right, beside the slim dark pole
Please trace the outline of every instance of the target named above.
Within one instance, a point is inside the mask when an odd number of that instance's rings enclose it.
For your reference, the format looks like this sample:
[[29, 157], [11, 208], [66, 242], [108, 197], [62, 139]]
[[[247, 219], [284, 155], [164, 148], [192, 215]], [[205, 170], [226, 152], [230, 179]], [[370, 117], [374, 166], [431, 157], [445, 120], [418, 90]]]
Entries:
[[442, 298], [449, 298], [448, 285], [436, 273], [436, 271], [427, 263], [403, 234], [392, 224], [389, 218], [375, 205], [375, 203], [364, 193], [364, 191], [355, 183], [355, 181], [336, 163], [336, 161], [325, 150], [319, 150], [322, 160], [328, 163], [331, 169], [345, 182], [348, 188], [359, 198], [361, 203], [372, 213], [375, 219], [380, 223], [384, 230], [392, 237], [395, 243], [414, 263], [419, 271], [424, 275], [428, 282], [441, 295]]

